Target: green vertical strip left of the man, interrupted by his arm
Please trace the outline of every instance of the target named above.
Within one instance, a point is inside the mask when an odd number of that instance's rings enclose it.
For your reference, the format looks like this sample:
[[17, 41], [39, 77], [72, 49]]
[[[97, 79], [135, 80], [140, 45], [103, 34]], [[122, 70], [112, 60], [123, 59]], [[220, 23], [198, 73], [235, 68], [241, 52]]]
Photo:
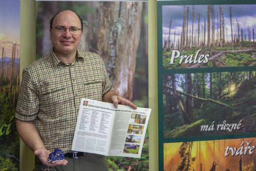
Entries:
[[[35, 60], [35, 1], [20, 0], [20, 69], [22, 71]], [[34, 169], [34, 153], [20, 139], [19, 169], [28, 171]]]

